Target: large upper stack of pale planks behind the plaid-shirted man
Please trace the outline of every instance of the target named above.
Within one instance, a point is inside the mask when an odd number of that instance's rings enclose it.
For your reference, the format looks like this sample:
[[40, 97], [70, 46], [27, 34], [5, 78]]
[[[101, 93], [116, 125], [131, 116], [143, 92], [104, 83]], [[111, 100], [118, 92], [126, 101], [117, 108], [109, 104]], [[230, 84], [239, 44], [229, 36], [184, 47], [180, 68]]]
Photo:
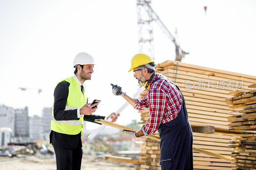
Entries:
[[[177, 66], [177, 61], [157, 64], [156, 72], [170, 78], [180, 88], [192, 127], [214, 126], [215, 131], [227, 133], [230, 132], [226, 116], [236, 115], [229, 113], [229, 107], [226, 105], [225, 99], [230, 97], [228, 93], [236, 88], [249, 91], [248, 85], [256, 82], [256, 76], [180, 62]], [[144, 97], [145, 94], [147, 94], [146, 90], [140, 97]], [[142, 121], [140, 124], [145, 124], [149, 118], [148, 109], [140, 113]]]

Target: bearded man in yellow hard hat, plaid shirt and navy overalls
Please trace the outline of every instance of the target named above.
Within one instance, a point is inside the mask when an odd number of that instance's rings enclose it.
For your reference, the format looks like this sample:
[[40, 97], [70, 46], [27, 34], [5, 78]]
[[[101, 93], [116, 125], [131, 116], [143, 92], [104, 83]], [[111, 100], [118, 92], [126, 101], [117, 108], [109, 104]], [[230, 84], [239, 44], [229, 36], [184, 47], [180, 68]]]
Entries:
[[131, 70], [148, 93], [142, 99], [132, 98], [120, 86], [113, 85], [114, 95], [124, 97], [135, 109], [149, 109], [149, 119], [137, 132], [124, 130], [131, 137], [150, 135], [158, 130], [162, 170], [193, 169], [193, 135], [185, 100], [171, 79], [156, 73], [155, 63], [146, 54], [132, 57]]

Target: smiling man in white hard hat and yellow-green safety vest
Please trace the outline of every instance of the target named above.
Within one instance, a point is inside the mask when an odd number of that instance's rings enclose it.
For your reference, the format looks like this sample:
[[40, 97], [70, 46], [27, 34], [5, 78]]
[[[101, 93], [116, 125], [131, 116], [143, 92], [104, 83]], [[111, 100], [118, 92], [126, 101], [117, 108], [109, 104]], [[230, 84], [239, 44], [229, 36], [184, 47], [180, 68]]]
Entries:
[[73, 63], [75, 75], [61, 80], [54, 89], [50, 144], [55, 151], [57, 170], [81, 169], [83, 121], [107, 120], [111, 116], [115, 122], [119, 116], [114, 113], [108, 117], [92, 114], [97, 110], [97, 107], [92, 107], [98, 103], [91, 105], [87, 102], [87, 88], [83, 84], [85, 80], [91, 80], [94, 64], [91, 55], [77, 54]]

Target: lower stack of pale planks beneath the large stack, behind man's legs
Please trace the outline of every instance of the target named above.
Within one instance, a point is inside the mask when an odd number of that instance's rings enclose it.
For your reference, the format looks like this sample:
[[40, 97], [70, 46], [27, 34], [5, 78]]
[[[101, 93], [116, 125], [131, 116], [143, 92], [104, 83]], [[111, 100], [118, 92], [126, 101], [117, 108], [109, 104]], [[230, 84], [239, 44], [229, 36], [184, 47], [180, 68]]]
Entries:
[[[219, 153], [225, 156], [231, 155], [231, 148], [228, 148], [228, 141], [231, 135], [217, 135], [193, 132], [193, 146], [210, 152]], [[160, 170], [160, 142], [153, 139], [143, 139], [140, 152], [141, 170]], [[215, 158], [198, 152], [193, 152], [194, 169], [230, 169], [230, 161]]]

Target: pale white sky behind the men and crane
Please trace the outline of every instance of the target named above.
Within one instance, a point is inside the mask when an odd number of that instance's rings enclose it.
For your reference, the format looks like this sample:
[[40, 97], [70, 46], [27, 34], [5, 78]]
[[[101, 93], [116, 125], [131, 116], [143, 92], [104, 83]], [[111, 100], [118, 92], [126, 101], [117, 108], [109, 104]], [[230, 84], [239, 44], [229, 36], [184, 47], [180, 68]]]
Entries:
[[[177, 27], [180, 46], [189, 52], [183, 63], [255, 75], [256, 1], [152, 0], [151, 6], [173, 34]], [[136, 0], [1, 0], [0, 23], [1, 105], [28, 106], [29, 116], [41, 115], [43, 107], [52, 107], [56, 84], [73, 76], [80, 52], [97, 63], [92, 80], [85, 81], [89, 101], [101, 100], [95, 114], [109, 115], [125, 102], [110, 83], [130, 95], [139, 88], [128, 73], [139, 52]], [[156, 24], [153, 35], [156, 63], [174, 60], [174, 45]], [[128, 106], [117, 123], [132, 119], [139, 121], [140, 114]]]

